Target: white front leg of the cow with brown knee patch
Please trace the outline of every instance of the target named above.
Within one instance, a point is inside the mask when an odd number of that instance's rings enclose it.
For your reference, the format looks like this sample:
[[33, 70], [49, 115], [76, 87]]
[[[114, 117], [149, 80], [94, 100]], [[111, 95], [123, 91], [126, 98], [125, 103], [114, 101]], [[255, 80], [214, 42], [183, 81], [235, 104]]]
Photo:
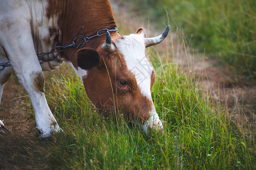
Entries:
[[[44, 95], [44, 78], [42, 68], [36, 56], [30, 24], [19, 20], [19, 27], [11, 25], [9, 30], [0, 30], [0, 42], [5, 49], [20, 84], [30, 96], [35, 111], [36, 129], [42, 133], [41, 138], [60, 131]], [[12, 41], [10, 41], [12, 40]]]

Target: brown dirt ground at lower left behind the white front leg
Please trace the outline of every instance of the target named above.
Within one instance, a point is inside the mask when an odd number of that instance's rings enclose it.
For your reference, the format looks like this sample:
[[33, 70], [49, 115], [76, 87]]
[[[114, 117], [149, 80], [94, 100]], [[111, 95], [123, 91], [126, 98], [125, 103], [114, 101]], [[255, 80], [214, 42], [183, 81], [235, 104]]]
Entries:
[[6, 83], [0, 105], [0, 119], [6, 128], [0, 134], [0, 169], [44, 169], [46, 156], [38, 146], [43, 143], [35, 135], [35, 118], [27, 110], [28, 96], [15, 76]]

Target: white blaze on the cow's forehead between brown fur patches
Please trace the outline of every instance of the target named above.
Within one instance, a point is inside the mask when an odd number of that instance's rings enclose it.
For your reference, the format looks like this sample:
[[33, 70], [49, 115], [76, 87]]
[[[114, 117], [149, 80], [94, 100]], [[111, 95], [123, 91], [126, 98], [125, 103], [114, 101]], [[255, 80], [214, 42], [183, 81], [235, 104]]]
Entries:
[[146, 96], [148, 100], [152, 100], [150, 85], [154, 68], [146, 57], [143, 33], [124, 36], [116, 40], [115, 45], [123, 54], [127, 69], [135, 75], [142, 95]]

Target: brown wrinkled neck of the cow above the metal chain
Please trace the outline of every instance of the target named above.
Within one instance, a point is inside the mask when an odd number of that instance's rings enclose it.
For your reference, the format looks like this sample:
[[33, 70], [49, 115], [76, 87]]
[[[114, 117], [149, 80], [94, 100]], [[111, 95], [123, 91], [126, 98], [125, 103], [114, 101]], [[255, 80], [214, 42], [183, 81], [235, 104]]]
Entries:
[[116, 27], [109, 1], [49, 1], [49, 15], [59, 13], [60, 44], [67, 45], [82, 34], [93, 36], [102, 28]]

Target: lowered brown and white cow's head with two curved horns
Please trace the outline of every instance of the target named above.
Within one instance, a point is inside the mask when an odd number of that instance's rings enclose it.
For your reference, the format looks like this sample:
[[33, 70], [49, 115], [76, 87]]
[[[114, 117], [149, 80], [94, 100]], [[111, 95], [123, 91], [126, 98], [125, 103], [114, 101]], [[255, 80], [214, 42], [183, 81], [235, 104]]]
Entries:
[[169, 31], [160, 36], [146, 38], [144, 28], [129, 36], [110, 36], [97, 49], [77, 51], [78, 70], [85, 90], [99, 111], [122, 109], [130, 118], [139, 118], [143, 129], [162, 132], [163, 125], [155, 111], [151, 88], [155, 70], [148, 60], [145, 48], [159, 44]]

